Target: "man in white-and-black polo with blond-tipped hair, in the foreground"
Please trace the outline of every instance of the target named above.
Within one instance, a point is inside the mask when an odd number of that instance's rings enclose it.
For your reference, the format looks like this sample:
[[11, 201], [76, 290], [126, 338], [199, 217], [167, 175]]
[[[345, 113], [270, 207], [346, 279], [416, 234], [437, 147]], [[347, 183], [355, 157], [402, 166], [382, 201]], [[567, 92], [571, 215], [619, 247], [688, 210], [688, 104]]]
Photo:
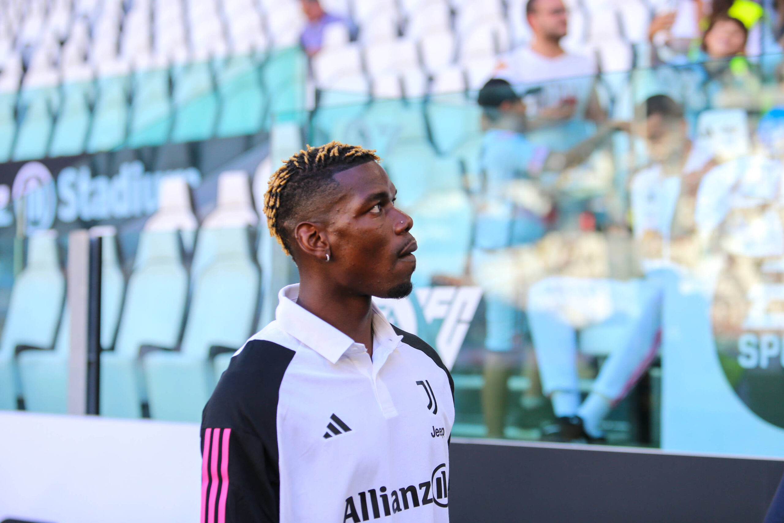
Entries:
[[284, 164], [264, 213], [299, 284], [205, 407], [201, 521], [448, 521], [452, 377], [372, 303], [412, 291], [412, 219], [374, 151]]

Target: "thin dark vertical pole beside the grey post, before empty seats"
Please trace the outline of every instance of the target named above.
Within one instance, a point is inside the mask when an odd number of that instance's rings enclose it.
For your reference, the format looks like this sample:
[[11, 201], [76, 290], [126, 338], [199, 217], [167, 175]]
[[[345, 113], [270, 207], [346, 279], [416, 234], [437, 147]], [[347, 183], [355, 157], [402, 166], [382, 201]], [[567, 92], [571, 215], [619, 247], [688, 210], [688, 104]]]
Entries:
[[100, 273], [101, 238], [90, 238], [90, 274], [87, 297], [87, 414], [100, 413]]

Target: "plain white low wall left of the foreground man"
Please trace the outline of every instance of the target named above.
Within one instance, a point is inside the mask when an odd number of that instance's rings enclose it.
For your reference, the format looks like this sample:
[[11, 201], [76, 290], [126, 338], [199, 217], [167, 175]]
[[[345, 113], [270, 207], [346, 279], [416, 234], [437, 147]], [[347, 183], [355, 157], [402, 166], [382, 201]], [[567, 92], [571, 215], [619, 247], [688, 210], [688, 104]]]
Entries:
[[199, 427], [0, 412], [0, 521], [194, 523]]

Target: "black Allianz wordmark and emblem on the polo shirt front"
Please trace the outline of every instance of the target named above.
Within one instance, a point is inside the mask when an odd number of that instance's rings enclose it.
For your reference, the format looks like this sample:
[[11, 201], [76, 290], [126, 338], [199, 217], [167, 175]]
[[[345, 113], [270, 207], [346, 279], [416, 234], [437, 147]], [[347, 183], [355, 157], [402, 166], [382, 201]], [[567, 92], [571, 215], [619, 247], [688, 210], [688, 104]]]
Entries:
[[433, 503], [436, 507], [448, 507], [448, 474], [446, 463], [435, 467], [430, 481], [387, 490], [387, 487], [368, 488], [356, 496], [346, 499], [343, 523], [369, 521], [413, 510]]

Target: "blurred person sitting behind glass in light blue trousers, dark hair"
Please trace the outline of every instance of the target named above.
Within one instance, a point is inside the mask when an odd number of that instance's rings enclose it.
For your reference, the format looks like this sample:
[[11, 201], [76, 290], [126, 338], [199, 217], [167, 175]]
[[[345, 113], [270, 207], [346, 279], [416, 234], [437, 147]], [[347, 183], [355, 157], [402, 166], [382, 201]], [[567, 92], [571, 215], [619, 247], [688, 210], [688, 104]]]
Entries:
[[[694, 199], [711, 155], [688, 140], [683, 109], [652, 96], [638, 109], [652, 165], [631, 181], [633, 235], [644, 279], [551, 277], [532, 286], [528, 318], [546, 394], [559, 418], [546, 430], [554, 441], [604, 437], [601, 422], [650, 365], [659, 348], [663, 284], [668, 274], [699, 263]], [[577, 331], [609, 322], [622, 335], [590, 394], [580, 402]]]

